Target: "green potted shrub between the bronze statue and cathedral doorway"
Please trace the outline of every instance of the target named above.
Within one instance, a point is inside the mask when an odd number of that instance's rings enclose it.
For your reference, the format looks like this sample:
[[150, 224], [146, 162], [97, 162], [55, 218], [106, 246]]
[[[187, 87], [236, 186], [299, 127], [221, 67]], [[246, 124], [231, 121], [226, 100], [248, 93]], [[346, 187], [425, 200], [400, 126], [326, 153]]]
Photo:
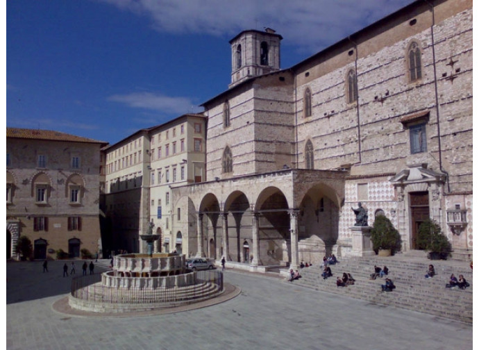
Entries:
[[378, 215], [371, 229], [373, 250], [379, 256], [390, 256], [394, 251], [401, 249], [401, 235], [385, 215]]

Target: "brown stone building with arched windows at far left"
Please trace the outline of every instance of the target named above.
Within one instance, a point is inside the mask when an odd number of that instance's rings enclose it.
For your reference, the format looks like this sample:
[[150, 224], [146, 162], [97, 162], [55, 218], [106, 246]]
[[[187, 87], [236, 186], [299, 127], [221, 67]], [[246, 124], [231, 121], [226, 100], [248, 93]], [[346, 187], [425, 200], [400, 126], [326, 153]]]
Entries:
[[7, 128], [7, 258], [30, 238], [33, 258], [101, 253], [100, 149], [106, 142], [57, 131]]

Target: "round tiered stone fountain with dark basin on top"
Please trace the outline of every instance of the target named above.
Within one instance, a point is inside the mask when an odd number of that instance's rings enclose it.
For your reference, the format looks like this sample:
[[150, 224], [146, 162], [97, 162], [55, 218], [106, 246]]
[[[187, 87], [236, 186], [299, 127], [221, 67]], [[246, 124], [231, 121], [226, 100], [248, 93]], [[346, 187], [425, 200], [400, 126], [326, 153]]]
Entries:
[[[69, 306], [97, 313], [157, 310], [211, 299], [224, 292], [223, 274], [217, 270], [190, 271], [185, 255], [153, 253], [153, 222], [146, 235], [148, 253], [113, 258], [112, 271], [72, 279]], [[100, 281], [101, 279], [101, 281]]]

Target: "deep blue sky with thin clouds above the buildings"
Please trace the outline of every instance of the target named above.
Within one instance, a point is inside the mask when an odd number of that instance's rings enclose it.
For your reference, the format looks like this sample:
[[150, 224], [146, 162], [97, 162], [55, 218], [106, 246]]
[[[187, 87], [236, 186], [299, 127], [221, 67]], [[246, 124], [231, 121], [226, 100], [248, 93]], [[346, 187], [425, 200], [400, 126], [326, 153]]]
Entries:
[[228, 89], [229, 40], [274, 28], [281, 68], [412, 0], [8, 0], [6, 125], [114, 144]]

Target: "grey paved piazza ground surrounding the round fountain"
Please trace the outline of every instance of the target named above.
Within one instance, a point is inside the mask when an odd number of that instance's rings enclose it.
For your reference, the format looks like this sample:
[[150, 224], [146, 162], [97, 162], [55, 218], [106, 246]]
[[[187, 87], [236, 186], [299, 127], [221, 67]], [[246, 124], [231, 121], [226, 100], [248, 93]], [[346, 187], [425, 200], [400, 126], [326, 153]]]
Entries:
[[[472, 349], [473, 327], [228, 269], [237, 297], [145, 317], [76, 317], [53, 310], [69, 292], [64, 262], [7, 263], [6, 349]], [[76, 261], [76, 274], [81, 274]], [[67, 262], [69, 265], [69, 262]], [[96, 272], [108, 260], [99, 260]]]

